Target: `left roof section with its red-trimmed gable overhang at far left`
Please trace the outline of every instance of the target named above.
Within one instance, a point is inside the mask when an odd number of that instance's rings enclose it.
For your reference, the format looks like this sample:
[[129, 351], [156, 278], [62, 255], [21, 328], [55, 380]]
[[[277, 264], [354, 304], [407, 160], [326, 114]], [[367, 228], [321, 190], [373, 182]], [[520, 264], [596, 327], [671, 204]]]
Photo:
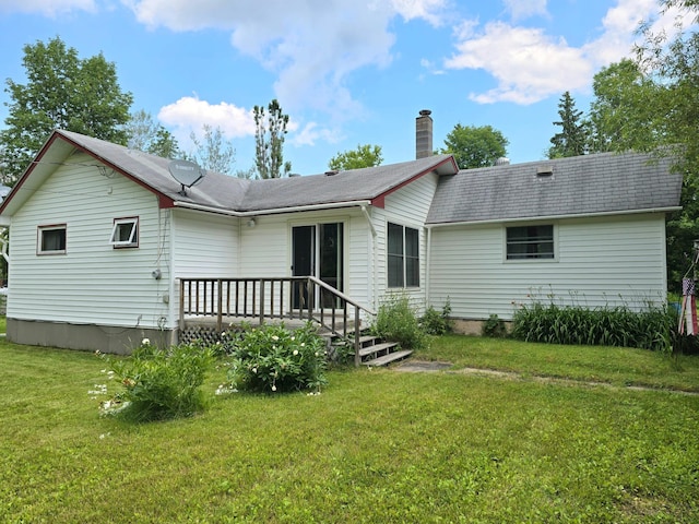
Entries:
[[[24, 172], [0, 206], [0, 214], [12, 215], [32, 191], [75, 151], [95, 159], [154, 192], [162, 207], [182, 206], [211, 212], [250, 214], [282, 212], [313, 205], [356, 205], [370, 202], [382, 205], [392, 191], [436, 171], [453, 175], [457, 164], [451, 155], [353, 169], [336, 174], [289, 177], [271, 180], [245, 180], [215, 171], [192, 188], [181, 186], [170, 176], [170, 160], [70, 131], [55, 131], [36, 159]], [[32, 183], [28, 183], [32, 180]]]

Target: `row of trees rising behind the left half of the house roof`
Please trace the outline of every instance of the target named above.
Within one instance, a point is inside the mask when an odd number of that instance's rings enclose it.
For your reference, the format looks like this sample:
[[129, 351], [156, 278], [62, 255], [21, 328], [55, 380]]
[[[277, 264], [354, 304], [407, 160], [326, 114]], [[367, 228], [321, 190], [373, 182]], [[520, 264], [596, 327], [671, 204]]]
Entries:
[[[187, 158], [201, 167], [245, 178], [276, 178], [291, 171], [282, 148], [288, 116], [277, 100], [254, 106], [256, 165], [234, 171], [235, 147], [220, 128], [203, 126], [192, 132], [191, 151], [153, 116], [129, 112], [133, 95], [119, 86], [116, 66], [99, 53], [81, 59], [78, 50], [56, 37], [27, 44], [22, 63], [27, 82], [7, 80], [10, 95], [5, 128], [0, 131], [0, 178], [12, 186], [55, 129], [106, 140], [165, 158]], [[284, 169], [284, 171], [282, 171]]]

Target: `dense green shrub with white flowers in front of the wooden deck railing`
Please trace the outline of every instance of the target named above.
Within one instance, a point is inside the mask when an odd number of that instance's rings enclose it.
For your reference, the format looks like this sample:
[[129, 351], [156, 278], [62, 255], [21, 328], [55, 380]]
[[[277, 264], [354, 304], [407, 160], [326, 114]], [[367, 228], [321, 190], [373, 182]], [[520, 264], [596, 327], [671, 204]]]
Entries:
[[324, 371], [324, 341], [311, 323], [295, 331], [284, 325], [248, 325], [234, 335], [230, 389], [318, 392], [327, 383]]

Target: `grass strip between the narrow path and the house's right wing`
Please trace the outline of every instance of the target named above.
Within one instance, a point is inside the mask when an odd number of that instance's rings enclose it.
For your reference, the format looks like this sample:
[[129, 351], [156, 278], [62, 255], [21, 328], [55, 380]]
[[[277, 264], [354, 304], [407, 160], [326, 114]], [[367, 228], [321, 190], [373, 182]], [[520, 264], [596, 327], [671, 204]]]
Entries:
[[666, 357], [647, 349], [532, 344], [508, 338], [447, 335], [417, 358], [454, 368], [490, 368], [524, 376], [566, 378], [614, 385], [699, 392], [699, 358]]

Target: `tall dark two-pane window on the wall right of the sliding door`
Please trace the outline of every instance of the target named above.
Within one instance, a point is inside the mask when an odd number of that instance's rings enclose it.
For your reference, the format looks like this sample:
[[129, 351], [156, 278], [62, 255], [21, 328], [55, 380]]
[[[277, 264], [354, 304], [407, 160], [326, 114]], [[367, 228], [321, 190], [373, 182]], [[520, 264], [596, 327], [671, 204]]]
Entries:
[[419, 287], [419, 231], [389, 222], [389, 287]]

